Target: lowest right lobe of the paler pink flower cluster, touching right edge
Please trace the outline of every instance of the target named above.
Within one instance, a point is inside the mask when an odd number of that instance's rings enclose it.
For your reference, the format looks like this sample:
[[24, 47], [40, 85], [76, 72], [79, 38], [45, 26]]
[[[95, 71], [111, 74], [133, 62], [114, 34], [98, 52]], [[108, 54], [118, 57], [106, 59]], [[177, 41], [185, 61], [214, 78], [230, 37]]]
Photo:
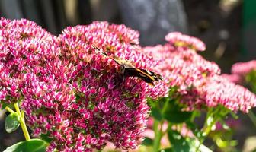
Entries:
[[248, 112], [249, 109], [256, 106], [254, 93], [219, 75], [209, 78], [202, 89], [207, 106], [221, 104], [232, 111], [241, 110], [243, 112]]

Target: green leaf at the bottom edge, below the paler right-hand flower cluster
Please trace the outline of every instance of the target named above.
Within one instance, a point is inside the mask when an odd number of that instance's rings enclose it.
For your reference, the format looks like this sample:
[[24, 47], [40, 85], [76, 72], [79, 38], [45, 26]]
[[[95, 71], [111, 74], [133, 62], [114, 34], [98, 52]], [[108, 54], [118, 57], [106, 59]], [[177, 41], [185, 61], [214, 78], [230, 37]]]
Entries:
[[174, 152], [190, 152], [190, 143], [178, 133], [178, 131], [168, 128], [168, 139]]

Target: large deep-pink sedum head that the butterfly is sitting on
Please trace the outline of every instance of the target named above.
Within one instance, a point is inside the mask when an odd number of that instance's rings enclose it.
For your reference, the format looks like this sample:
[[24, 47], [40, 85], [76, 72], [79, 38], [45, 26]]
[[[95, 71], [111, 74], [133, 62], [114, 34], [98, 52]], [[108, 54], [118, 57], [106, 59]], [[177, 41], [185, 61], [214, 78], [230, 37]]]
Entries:
[[108, 142], [123, 150], [139, 145], [149, 116], [146, 97], [162, 97], [168, 90], [162, 82], [150, 86], [123, 77], [110, 58], [153, 71], [158, 62], [142, 54], [138, 36], [123, 25], [94, 22], [68, 27], [54, 46], [47, 45], [55, 47], [58, 58], [40, 68], [40, 77], [26, 74], [23, 108], [34, 135], [52, 139], [48, 151], [100, 150]]

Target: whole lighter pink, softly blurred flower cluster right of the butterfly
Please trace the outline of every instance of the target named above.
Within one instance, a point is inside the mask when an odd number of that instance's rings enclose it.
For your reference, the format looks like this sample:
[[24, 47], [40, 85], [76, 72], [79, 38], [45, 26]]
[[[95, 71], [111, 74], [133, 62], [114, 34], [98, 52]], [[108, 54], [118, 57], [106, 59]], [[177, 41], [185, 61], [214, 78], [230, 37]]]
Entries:
[[173, 97], [180, 98], [188, 110], [222, 105], [233, 111], [248, 112], [248, 109], [256, 106], [253, 93], [220, 76], [218, 65], [206, 61], [187, 46], [190, 44], [203, 50], [202, 42], [181, 33], [169, 33], [166, 39], [171, 43], [146, 47], [143, 52], [160, 61], [155, 69], [164, 76], [169, 87], [177, 88]]

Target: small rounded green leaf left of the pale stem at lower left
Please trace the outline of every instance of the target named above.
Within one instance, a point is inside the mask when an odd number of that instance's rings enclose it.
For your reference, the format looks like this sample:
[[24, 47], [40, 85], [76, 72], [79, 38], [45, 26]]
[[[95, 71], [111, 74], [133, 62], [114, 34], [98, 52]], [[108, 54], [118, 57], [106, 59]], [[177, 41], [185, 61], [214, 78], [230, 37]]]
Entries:
[[17, 112], [13, 112], [5, 118], [5, 130], [8, 133], [15, 131], [20, 126], [20, 116]]

